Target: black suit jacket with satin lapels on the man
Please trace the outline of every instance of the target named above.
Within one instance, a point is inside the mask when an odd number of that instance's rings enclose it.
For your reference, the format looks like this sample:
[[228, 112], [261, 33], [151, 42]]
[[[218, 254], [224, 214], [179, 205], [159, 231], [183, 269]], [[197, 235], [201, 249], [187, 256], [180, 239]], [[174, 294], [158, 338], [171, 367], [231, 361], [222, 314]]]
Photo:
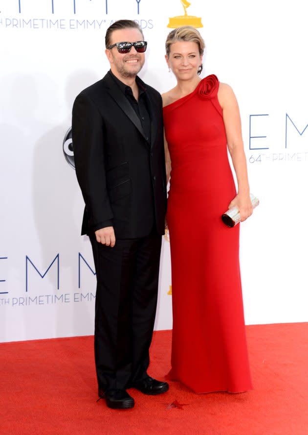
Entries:
[[164, 234], [166, 173], [162, 102], [144, 84], [151, 140], [110, 73], [82, 91], [72, 114], [78, 182], [85, 200], [82, 234], [112, 225], [115, 237], [140, 238], [156, 226]]

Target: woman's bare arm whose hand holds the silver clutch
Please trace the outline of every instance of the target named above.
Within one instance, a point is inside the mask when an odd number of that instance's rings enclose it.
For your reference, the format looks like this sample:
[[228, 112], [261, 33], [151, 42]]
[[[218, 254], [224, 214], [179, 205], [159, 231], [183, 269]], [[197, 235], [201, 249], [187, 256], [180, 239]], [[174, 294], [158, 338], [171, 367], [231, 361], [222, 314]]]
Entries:
[[252, 214], [252, 205], [249, 196], [239, 105], [232, 88], [225, 83], [220, 83], [218, 99], [222, 107], [228, 149], [238, 181], [238, 194], [231, 201], [229, 207], [237, 207], [240, 210], [241, 220], [243, 221]]

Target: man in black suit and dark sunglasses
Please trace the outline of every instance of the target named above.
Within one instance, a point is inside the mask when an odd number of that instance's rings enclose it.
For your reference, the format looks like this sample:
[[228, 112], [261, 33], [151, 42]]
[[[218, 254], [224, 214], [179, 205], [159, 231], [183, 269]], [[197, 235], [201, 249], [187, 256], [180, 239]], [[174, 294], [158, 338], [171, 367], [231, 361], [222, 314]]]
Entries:
[[134, 406], [126, 391], [160, 394], [149, 377], [166, 176], [161, 97], [137, 76], [147, 43], [138, 24], [106, 33], [110, 71], [73, 106], [72, 139], [97, 277], [94, 350], [98, 394], [110, 408]]

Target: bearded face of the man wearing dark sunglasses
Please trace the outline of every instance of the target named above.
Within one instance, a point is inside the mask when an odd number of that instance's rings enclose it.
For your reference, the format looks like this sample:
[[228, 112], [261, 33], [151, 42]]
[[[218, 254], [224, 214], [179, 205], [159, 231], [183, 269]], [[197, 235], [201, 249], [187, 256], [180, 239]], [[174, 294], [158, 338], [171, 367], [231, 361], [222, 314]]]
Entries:
[[[143, 41], [141, 32], [135, 28], [127, 28], [114, 30], [114, 32], [111, 33], [110, 45], [117, 42], [137, 41]], [[110, 50], [106, 49], [106, 54], [110, 62], [111, 71], [118, 78], [135, 77], [143, 67], [145, 61], [144, 53], [137, 53], [134, 47], [132, 47], [131, 51], [128, 53], [121, 54], [115, 46]]]

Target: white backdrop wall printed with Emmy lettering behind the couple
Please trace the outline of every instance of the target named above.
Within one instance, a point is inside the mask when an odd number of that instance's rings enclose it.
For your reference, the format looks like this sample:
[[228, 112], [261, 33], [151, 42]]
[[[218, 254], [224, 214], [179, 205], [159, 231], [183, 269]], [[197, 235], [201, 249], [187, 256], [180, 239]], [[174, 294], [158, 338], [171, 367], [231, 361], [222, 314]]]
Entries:
[[[260, 198], [241, 229], [246, 323], [307, 321], [308, 7], [191, 3], [207, 46], [202, 76], [217, 74], [238, 97]], [[105, 32], [122, 18], [138, 20], [149, 44], [142, 79], [173, 87], [164, 42], [182, 14], [180, 0], [0, 0], [0, 341], [93, 333], [83, 199], [62, 149], [72, 102], [109, 69]], [[170, 285], [164, 241], [155, 329], [172, 327]]]

